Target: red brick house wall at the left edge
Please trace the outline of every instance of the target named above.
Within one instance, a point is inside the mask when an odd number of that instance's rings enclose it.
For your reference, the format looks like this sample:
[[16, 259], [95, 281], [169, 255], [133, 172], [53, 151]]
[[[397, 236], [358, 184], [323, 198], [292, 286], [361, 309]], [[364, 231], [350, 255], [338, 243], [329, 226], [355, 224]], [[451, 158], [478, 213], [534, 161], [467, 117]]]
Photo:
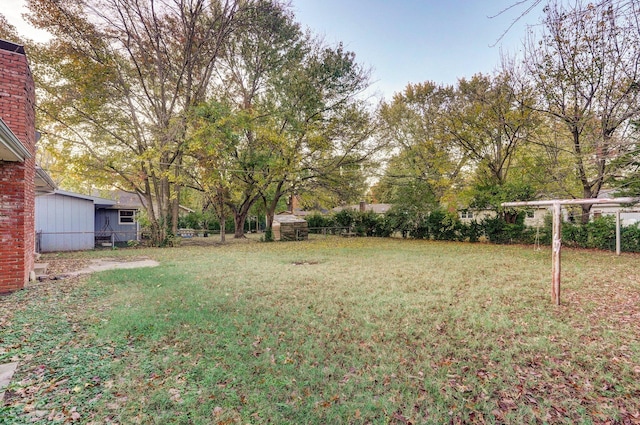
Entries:
[[32, 157], [0, 161], [0, 293], [21, 289], [35, 252], [35, 88], [26, 56], [0, 48], [0, 118]]

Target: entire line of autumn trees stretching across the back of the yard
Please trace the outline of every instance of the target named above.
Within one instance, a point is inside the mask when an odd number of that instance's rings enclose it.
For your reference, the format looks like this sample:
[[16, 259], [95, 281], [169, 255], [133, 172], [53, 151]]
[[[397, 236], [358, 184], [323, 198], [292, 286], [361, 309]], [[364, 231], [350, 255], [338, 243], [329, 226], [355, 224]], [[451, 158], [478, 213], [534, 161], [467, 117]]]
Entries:
[[355, 53], [281, 0], [30, 0], [28, 19], [52, 35], [23, 40], [39, 161], [71, 190], [136, 193], [155, 245], [176, 234], [180, 204], [233, 221], [224, 240], [250, 216], [270, 227], [293, 195], [307, 209], [392, 203], [391, 228], [413, 237], [445, 238], [439, 222], [462, 238], [449, 220], [461, 208], [517, 228], [505, 201], [640, 194], [636, 6], [547, 1], [496, 73], [373, 105]]

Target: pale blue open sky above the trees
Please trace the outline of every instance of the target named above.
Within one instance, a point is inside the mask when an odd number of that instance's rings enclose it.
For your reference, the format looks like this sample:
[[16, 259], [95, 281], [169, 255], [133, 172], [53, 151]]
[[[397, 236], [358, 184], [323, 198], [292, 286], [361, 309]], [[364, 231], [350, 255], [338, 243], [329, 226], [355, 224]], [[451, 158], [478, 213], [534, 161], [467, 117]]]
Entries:
[[[528, 4], [533, 0], [529, 0]], [[2, 0], [18, 32], [38, 40], [22, 18], [25, 0]], [[501, 52], [521, 50], [527, 25], [542, 6], [519, 19], [527, 3], [500, 14], [518, 0], [291, 0], [298, 22], [330, 44], [342, 42], [372, 71], [368, 94], [390, 100], [408, 83], [455, 84], [458, 78], [492, 73]], [[499, 15], [494, 18], [491, 16]], [[497, 43], [497, 45], [496, 45]]]

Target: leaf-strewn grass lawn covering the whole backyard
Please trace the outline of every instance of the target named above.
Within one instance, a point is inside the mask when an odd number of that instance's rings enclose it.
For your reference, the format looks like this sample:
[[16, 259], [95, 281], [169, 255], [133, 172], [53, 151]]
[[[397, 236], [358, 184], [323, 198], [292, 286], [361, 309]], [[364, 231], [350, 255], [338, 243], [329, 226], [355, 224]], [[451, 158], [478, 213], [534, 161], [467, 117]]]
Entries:
[[[1, 423], [640, 423], [640, 256], [318, 238], [89, 252], [0, 298]], [[52, 265], [65, 256], [49, 256]]]

